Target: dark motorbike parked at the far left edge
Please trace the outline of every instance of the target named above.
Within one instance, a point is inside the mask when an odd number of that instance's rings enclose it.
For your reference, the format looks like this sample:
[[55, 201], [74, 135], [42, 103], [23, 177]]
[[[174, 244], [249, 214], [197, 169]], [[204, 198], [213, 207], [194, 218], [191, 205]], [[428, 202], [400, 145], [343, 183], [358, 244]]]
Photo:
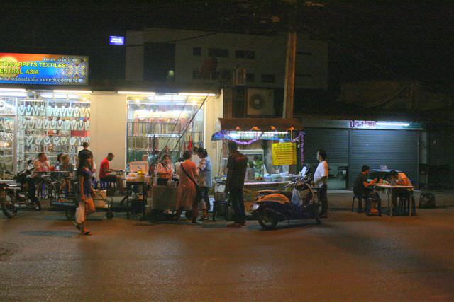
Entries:
[[28, 197], [27, 177], [33, 170], [22, 170], [12, 180], [0, 180], [0, 206], [6, 217], [13, 218], [19, 209], [40, 211], [40, 202], [32, 203]]

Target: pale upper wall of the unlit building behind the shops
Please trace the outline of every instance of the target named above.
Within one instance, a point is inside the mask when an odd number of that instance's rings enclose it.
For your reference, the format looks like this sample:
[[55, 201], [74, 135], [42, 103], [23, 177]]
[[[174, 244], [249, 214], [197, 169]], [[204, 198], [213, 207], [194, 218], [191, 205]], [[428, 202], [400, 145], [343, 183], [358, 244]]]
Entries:
[[[245, 68], [247, 73], [255, 74], [255, 82], [248, 86], [283, 88], [285, 75], [285, 48], [287, 35], [262, 36], [239, 35], [231, 33], [213, 33], [194, 30], [148, 29], [143, 32], [127, 32], [126, 45], [142, 42], [175, 43], [175, 82], [177, 83], [218, 83], [218, 80], [192, 79], [192, 71], [200, 69], [209, 58], [209, 48], [228, 49], [226, 57], [216, 57], [218, 71], [233, 71]], [[201, 47], [201, 56], [193, 55], [193, 47]], [[131, 50], [130, 50], [131, 48]], [[140, 52], [140, 48], [142, 51]], [[126, 80], [143, 80], [143, 46], [127, 46]], [[300, 37], [298, 51], [310, 52], [311, 55], [297, 55], [297, 74], [310, 74], [297, 77], [297, 88], [328, 88], [328, 45], [323, 41], [314, 41]], [[236, 50], [255, 52], [255, 59], [237, 59]], [[140, 64], [142, 69], [140, 69]], [[261, 74], [274, 74], [275, 83], [263, 83]]]

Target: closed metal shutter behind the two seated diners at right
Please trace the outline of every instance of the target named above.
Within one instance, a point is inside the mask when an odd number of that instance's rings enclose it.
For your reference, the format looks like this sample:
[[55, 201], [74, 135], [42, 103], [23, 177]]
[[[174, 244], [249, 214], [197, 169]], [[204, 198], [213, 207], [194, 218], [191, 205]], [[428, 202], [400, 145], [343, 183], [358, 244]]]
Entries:
[[350, 130], [349, 187], [362, 165], [402, 170], [414, 185], [418, 184], [419, 132], [392, 130]]

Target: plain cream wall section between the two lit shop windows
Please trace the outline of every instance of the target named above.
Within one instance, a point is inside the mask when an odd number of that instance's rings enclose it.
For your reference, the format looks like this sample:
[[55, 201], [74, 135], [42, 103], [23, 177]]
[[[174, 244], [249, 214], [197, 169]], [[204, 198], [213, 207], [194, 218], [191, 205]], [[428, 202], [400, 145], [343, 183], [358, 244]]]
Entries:
[[[126, 95], [92, 93], [90, 149], [99, 168], [102, 159], [112, 152], [112, 169], [124, 169], [126, 162]], [[99, 170], [99, 169], [98, 169]]]

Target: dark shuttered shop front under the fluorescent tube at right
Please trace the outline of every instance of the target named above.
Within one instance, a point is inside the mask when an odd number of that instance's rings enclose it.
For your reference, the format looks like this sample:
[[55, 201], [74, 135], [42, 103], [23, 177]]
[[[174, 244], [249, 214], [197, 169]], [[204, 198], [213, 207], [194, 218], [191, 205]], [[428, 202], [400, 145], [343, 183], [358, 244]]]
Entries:
[[329, 188], [353, 186], [362, 165], [402, 170], [419, 184], [423, 127], [414, 122], [323, 120], [304, 116], [306, 164], [316, 167], [318, 149], [328, 154]]

